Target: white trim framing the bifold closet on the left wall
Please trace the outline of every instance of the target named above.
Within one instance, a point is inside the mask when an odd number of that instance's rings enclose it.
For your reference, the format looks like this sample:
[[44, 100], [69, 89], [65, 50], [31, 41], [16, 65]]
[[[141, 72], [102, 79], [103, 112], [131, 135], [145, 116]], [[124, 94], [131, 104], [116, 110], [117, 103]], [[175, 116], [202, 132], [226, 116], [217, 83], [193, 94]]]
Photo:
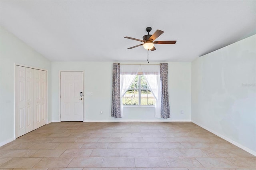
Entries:
[[20, 63], [14, 63], [14, 139], [17, 138], [16, 135], [16, 66], [21, 66], [21, 67], [28, 67], [31, 69], [37, 69], [37, 70], [42, 70], [42, 71], [46, 71], [46, 125], [51, 123], [52, 121], [48, 122], [48, 70], [47, 69], [43, 69], [40, 67], [34, 67], [34, 66], [30, 66], [30, 65], [25, 65], [25, 64], [20, 64]]

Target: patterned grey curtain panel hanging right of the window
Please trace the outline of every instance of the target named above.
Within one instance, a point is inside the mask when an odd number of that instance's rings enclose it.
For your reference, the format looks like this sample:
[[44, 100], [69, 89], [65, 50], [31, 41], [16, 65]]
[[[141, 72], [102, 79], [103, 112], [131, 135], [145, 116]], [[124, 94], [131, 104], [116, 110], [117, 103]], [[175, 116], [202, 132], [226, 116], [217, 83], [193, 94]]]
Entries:
[[168, 63], [160, 63], [160, 81], [161, 81], [161, 117], [164, 119], [170, 118], [170, 104], [168, 93]]

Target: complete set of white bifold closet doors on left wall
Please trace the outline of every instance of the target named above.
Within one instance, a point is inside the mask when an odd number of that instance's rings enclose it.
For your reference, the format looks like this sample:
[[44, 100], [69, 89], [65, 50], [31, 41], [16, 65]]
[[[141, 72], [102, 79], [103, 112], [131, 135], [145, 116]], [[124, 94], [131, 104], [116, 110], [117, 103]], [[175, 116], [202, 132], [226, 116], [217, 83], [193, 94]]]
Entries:
[[46, 125], [46, 71], [16, 65], [16, 137]]

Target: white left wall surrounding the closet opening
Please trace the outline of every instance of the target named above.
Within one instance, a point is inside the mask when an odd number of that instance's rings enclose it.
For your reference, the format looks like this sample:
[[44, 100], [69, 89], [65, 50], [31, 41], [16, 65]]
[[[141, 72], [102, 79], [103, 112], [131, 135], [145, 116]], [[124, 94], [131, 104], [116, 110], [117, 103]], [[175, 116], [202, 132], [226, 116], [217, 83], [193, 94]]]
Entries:
[[51, 62], [1, 27], [0, 146], [14, 140], [14, 63], [47, 69], [48, 121], [51, 121]]

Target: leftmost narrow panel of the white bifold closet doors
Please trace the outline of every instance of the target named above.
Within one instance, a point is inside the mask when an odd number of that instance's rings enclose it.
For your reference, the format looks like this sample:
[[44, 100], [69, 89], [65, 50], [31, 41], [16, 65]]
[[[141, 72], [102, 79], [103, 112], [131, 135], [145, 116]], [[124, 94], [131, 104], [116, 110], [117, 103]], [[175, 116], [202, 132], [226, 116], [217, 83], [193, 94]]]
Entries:
[[25, 67], [16, 67], [16, 137], [26, 133], [26, 73]]

